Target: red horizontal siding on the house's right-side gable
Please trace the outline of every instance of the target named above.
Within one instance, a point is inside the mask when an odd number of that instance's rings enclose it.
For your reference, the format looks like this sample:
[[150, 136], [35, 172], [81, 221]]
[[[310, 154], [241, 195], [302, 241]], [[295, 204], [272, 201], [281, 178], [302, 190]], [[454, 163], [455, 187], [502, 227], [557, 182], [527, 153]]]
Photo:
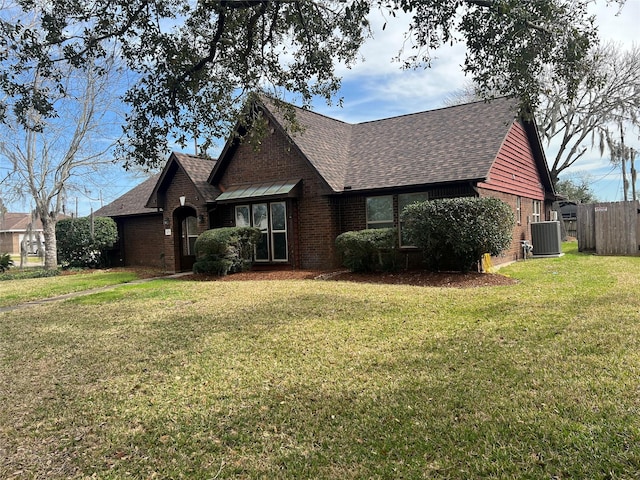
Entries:
[[538, 162], [522, 123], [511, 126], [485, 182], [478, 187], [534, 200], [545, 199]]

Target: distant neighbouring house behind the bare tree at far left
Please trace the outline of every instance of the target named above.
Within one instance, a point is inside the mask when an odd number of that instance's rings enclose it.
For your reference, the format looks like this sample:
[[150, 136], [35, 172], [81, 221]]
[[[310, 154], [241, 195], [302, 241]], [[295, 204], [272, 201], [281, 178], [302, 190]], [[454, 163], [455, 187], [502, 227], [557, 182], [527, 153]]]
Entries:
[[27, 235], [27, 253], [35, 255], [44, 248], [42, 222], [34, 220], [30, 213], [0, 214], [0, 253], [20, 255], [22, 240]]

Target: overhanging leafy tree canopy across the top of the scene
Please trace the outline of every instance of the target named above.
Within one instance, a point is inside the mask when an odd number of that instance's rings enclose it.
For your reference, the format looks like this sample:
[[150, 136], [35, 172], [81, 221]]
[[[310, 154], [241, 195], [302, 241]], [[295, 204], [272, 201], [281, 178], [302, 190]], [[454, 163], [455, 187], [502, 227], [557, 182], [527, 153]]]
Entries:
[[[603, 0], [607, 1], [607, 0]], [[623, 3], [624, 0], [617, 0]], [[59, 66], [82, 67], [118, 48], [134, 72], [121, 153], [153, 164], [172, 137], [207, 142], [228, 133], [246, 95], [285, 92], [308, 106], [335, 100], [335, 62], [351, 64], [372, 32], [368, 16], [411, 15], [406, 67], [427, 66], [433, 49], [464, 41], [464, 70], [481, 92], [535, 106], [543, 68], [569, 95], [597, 42], [587, 3], [573, 0], [16, 0], [0, 18], [0, 88], [15, 114], [56, 114], [52, 91], [33, 88], [26, 71], [64, 90]], [[36, 8], [37, 7], [37, 8]], [[24, 12], [42, 13], [35, 24]], [[53, 48], [55, 47], [55, 48]], [[401, 46], [399, 46], [399, 49]], [[0, 113], [7, 103], [0, 100]]]

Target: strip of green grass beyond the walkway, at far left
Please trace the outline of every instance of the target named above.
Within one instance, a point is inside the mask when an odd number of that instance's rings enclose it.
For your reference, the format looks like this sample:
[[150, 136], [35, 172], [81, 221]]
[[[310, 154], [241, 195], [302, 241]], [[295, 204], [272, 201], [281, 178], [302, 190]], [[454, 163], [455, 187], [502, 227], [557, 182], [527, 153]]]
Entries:
[[[14, 269], [6, 275], [13, 272]], [[135, 279], [136, 275], [133, 272], [96, 270], [56, 277], [8, 280], [0, 282], [0, 307], [19, 305], [91, 288], [117, 285]]]

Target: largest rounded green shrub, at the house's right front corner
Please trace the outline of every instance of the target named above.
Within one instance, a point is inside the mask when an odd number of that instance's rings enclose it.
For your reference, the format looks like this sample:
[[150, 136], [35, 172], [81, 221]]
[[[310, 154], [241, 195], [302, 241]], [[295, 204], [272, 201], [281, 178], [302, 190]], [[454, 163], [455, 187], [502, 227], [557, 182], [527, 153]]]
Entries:
[[515, 220], [499, 199], [452, 198], [409, 205], [401, 221], [429, 268], [467, 271], [483, 254], [498, 255], [509, 247]]

